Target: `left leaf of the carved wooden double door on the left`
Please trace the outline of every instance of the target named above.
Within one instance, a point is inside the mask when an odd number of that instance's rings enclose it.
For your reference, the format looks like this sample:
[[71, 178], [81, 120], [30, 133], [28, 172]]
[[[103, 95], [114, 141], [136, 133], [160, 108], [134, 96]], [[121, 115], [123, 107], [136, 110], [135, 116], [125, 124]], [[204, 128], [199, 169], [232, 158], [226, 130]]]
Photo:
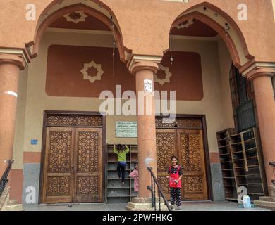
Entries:
[[47, 128], [42, 188], [43, 203], [71, 202], [73, 167], [73, 130]]

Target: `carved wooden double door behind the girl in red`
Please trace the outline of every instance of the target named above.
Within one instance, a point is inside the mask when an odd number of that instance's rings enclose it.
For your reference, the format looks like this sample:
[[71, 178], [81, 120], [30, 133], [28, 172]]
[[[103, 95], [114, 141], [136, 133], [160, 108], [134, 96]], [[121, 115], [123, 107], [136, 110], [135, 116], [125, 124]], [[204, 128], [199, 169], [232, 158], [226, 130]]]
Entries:
[[161, 188], [170, 200], [168, 168], [171, 156], [183, 166], [182, 200], [208, 200], [204, 144], [200, 129], [157, 129], [157, 175]]

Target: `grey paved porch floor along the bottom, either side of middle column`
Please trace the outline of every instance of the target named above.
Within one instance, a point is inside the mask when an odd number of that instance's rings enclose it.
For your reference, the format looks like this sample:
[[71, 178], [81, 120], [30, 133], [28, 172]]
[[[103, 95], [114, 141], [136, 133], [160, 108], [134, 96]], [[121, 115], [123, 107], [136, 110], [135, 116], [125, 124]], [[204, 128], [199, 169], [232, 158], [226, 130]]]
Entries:
[[[125, 211], [126, 204], [87, 203], [68, 207], [60, 205], [24, 205], [25, 211]], [[229, 202], [185, 202], [181, 211], [270, 211], [262, 208], [238, 208], [238, 203]]]

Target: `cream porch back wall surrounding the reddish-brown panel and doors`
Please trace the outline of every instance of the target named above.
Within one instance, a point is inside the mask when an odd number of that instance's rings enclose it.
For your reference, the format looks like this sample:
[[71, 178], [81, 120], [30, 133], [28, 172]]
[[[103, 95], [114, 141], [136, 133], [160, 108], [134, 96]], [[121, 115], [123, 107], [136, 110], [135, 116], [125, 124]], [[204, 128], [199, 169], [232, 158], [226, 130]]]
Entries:
[[[111, 35], [109, 34], [75, 34], [63, 32], [47, 32], [42, 40], [42, 49], [39, 56], [35, 58], [34, 62], [29, 67], [29, 75], [27, 86], [27, 98], [25, 102], [25, 127], [18, 127], [23, 130], [23, 145], [20, 143], [20, 137], [16, 136], [16, 143], [18, 143], [18, 153], [22, 149], [25, 152], [40, 152], [42, 143], [42, 122], [44, 110], [75, 110], [75, 111], [98, 111], [99, 105], [102, 101], [98, 98], [91, 97], [60, 97], [49, 96], [45, 93], [45, 86], [47, 81], [47, 58], [48, 49], [52, 45], [70, 45], [70, 46], [90, 46], [100, 47], [105, 46], [110, 48], [112, 46]], [[221, 84], [221, 77], [226, 81], [228, 79], [228, 71], [231, 60], [228, 52], [219, 58], [219, 45], [215, 39], [196, 40], [196, 39], [173, 39], [173, 48], [176, 51], [196, 53], [201, 58], [202, 68], [202, 83], [204, 96], [201, 101], [177, 101], [177, 112], [180, 114], [197, 114], [206, 115], [207, 119], [207, 134], [209, 151], [216, 152], [216, 131], [232, 127], [233, 113], [228, 110], [231, 106], [230, 91], [228, 91], [228, 84], [226, 82]], [[221, 49], [220, 51], [226, 51]], [[228, 58], [229, 57], [229, 58]], [[176, 60], [176, 56], [174, 56]], [[223, 62], [220, 66], [220, 62]], [[184, 63], [183, 63], [184, 64]], [[131, 76], [131, 75], [129, 75]], [[189, 82], [183, 80], [184, 82]], [[177, 90], [178, 91], [178, 90]], [[226, 107], [224, 107], [226, 105]], [[229, 105], [229, 107], [228, 107]], [[121, 139], [114, 136], [115, 122], [130, 120], [135, 121], [136, 117], [106, 117], [106, 143], [120, 143]], [[30, 145], [31, 139], [37, 139], [38, 145]], [[136, 139], [123, 139], [126, 143], [136, 143]], [[24, 155], [25, 156], [25, 155]], [[25, 157], [24, 157], [25, 158]], [[23, 157], [22, 157], [23, 161]], [[22, 168], [22, 165], [18, 169]]]

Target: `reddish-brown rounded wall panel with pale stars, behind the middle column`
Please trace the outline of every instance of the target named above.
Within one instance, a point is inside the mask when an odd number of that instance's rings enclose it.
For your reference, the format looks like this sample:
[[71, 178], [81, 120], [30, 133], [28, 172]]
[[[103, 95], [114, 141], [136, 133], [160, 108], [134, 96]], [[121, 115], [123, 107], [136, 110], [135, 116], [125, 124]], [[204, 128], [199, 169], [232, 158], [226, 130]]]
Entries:
[[[51, 45], [48, 50], [46, 93], [49, 96], [93, 97], [99, 98], [102, 91], [116, 93], [116, 85], [122, 86], [122, 91], [135, 91], [135, 77], [130, 74], [126, 65], [121, 63], [116, 51], [113, 73], [113, 49]], [[198, 53], [173, 52], [173, 64], [170, 53], [164, 54], [161, 65], [169, 68], [172, 76], [169, 83], [163, 85], [155, 82], [157, 91], [176, 91], [177, 100], [200, 101], [203, 98], [201, 59]], [[94, 61], [101, 65], [104, 71], [101, 80], [90, 82], [83, 79], [81, 70], [85, 63]], [[87, 70], [93, 77], [97, 69]], [[163, 70], [157, 72], [159, 79], [164, 79]]]

